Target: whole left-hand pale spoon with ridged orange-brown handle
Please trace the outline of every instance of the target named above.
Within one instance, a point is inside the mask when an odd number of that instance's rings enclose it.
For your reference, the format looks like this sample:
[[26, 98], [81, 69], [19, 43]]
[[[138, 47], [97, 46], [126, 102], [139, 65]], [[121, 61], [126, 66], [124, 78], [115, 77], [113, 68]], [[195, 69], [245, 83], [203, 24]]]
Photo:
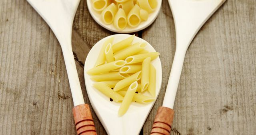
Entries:
[[92, 115], [84, 98], [71, 46], [72, 24], [80, 0], [27, 0], [54, 32], [62, 48], [74, 102], [77, 134], [96, 135]]

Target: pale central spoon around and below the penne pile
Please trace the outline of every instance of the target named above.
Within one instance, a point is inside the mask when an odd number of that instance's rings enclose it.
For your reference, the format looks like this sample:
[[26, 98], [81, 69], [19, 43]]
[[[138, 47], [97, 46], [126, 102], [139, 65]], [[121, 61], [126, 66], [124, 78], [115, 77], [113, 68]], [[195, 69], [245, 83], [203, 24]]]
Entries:
[[[116, 34], [114, 36], [113, 43], [121, 41], [128, 38], [131, 35], [128, 34]], [[148, 117], [150, 110], [152, 109], [154, 102], [149, 104], [138, 104], [132, 103], [128, 111], [121, 117], [118, 117], [118, 109], [121, 103], [116, 103], [110, 101], [110, 98], [102, 94], [100, 91], [95, 89], [92, 84], [95, 83], [90, 79], [90, 75], [86, 72], [94, 67], [98, 54], [100, 53], [100, 48], [103, 42], [112, 37], [108, 36], [103, 38], [98, 43], [96, 43], [90, 50], [85, 64], [84, 64], [84, 79], [86, 84], [86, 90], [90, 103], [100, 119], [100, 122], [104, 126], [108, 135], [138, 135], [140, 130]], [[135, 42], [146, 42], [145, 40], [135, 37], [133, 43]], [[156, 52], [154, 48], [148, 43], [146, 50], [149, 52]], [[160, 54], [161, 55], [161, 54]], [[160, 87], [162, 83], [162, 66], [159, 57], [152, 61], [153, 66], [156, 68], [156, 98], [160, 92]], [[146, 93], [145, 93], [146, 94]]]

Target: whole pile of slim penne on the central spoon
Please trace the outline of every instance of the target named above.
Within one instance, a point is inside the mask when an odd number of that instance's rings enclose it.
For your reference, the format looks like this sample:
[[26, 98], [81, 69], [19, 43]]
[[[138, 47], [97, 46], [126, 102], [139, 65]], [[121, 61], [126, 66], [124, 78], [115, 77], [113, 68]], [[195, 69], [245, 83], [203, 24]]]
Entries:
[[[115, 44], [113, 40], [114, 37], [104, 41], [95, 66], [86, 73], [96, 81], [96, 89], [121, 103], [118, 115], [122, 116], [132, 101], [146, 104], [155, 100], [156, 69], [151, 61], [159, 53], [145, 50], [145, 42], [132, 44], [134, 35]], [[146, 91], [151, 96], [144, 95]]]

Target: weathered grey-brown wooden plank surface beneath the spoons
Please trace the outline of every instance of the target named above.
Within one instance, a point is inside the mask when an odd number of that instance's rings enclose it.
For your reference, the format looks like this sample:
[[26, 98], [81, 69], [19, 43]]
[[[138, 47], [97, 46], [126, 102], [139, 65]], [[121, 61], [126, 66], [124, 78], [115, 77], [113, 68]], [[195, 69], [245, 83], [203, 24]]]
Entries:
[[[256, 134], [256, 1], [228, 0], [198, 32], [186, 54], [176, 95], [172, 134]], [[189, 22], [188, 22], [189, 23]], [[81, 0], [73, 51], [86, 103], [86, 53], [114, 34], [90, 16]], [[167, 0], [156, 21], [138, 33], [160, 52], [160, 95], [141, 134], [162, 105], [175, 51]], [[53, 32], [26, 2], [0, 0], [0, 135], [75, 135], [72, 96], [62, 51]], [[106, 135], [93, 113], [98, 135]]]

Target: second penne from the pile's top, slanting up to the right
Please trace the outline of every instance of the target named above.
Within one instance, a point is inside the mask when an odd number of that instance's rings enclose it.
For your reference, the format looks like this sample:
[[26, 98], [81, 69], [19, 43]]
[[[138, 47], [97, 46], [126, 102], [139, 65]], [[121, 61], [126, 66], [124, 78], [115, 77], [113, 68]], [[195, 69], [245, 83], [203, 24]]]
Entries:
[[118, 52], [117, 54], [114, 54], [115, 60], [124, 60], [125, 58], [132, 56], [146, 48], [147, 44], [145, 42], [143, 43], [137, 43], [135, 45], [132, 45], [126, 49], [123, 49], [122, 51]]

